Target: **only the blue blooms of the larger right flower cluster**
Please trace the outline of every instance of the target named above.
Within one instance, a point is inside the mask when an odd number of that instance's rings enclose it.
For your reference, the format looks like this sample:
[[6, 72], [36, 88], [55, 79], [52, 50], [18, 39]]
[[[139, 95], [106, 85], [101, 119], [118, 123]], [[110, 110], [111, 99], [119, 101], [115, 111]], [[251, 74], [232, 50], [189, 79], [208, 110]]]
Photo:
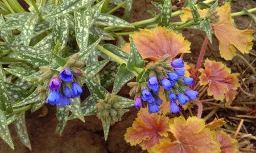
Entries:
[[[177, 113], [180, 112], [179, 105], [185, 105], [187, 101], [196, 99], [198, 92], [190, 90], [188, 86], [193, 84], [192, 78], [185, 78], [184, 73], [184, 61], [182, 58], [175, 59], [171, 62], [172, 70], [168, 71], [166, 76], [160, 75], [160, 79], [157, 76], [151, 75], [147, 82], [148, 88], [143, 88], [142, 90], [142, 100], [147, 101], [148, 112], [157, 113], [159, 112], [159, 106], [162, 104], [162, 99], [159, 98], [158, 94], [160, 91], [160, 86], [164, 88], [164, 93], [170, 99], [170, 112]], [[140, 108], [142, 106], [141, 97], [137, 97], [135, 100], [135, 107]]]

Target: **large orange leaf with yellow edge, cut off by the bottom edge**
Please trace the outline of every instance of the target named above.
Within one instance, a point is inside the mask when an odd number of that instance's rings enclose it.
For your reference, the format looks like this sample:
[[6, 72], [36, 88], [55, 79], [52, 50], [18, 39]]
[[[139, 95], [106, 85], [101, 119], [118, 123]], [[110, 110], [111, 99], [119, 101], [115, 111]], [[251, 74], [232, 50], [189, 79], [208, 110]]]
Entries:
[[175, 142], [161, 140], [152, 148], [154, 153], [217, 153], [220, 143], [216, 141], [213, 131], [205, 128], [205, 121], [197, 117], [176, 117], [171, 125], [171, 133], [177, 139]]

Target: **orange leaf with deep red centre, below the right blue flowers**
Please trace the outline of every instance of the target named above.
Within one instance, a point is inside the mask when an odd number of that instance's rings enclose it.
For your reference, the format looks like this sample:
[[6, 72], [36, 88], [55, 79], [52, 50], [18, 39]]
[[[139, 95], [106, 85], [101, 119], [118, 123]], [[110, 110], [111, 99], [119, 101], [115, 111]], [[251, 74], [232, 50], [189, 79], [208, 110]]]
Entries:
[[133, 126], [127, 129], [125, 140], [131, 146], [139, 144], [143, 150], [149, 151], [159, 144], [159, 139], [167, 138], [170, 131], [168, 122], [168, 117], [150, 114], [147, 108], [141, 108]]

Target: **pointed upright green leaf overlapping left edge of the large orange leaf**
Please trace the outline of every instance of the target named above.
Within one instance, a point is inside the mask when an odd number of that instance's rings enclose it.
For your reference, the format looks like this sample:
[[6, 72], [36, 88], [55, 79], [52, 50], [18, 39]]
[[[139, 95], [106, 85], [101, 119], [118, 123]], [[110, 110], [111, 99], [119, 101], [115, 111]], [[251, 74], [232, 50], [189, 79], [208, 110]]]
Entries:
[[141, 54], [139, 54], [137, 47], [134, 44], [133, 37], [130, 37], [130, 42], [131, 42], [131, 48], [130, 48], [129, 59], [127, 62], [127, 69], [130, 71], [134, 71], [133, 67], [143, 68], [144, 61]]

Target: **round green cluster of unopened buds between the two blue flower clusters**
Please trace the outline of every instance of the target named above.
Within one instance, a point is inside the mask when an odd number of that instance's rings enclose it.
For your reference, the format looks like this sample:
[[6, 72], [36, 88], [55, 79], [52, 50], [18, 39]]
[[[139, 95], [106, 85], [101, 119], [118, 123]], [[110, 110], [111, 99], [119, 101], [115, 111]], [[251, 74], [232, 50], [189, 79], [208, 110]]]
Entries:
[[121, 117], [125, 113], [115, 94], [106, 94], [105, 99], [100, 99], [96, 107], [97, 117], [102, 121], [110, 122], [110, 124], [121, 121]]

